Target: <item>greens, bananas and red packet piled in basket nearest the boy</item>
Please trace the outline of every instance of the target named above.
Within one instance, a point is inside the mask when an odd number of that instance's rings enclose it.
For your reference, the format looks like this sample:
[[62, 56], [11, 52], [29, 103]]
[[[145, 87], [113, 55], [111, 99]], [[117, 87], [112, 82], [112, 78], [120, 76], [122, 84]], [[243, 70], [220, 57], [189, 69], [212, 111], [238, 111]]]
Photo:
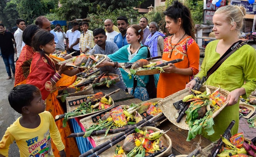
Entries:
[[104, 110], [112, 106], [112, 104], [113, 104], [112, 98], [107, 97], [107, 95], [103, 94], [102, 92], [98, 92], [92, 95], [91, 97], [87, 97], [86, 101], [82, 102], [79, 105], [79, 107], [76, 107], [74, 111], [65, 113], [64, 120], [63, 120], [63, 127], [66, 127], [66, 122], [70, 117], [86, 115], [99, 110]]

